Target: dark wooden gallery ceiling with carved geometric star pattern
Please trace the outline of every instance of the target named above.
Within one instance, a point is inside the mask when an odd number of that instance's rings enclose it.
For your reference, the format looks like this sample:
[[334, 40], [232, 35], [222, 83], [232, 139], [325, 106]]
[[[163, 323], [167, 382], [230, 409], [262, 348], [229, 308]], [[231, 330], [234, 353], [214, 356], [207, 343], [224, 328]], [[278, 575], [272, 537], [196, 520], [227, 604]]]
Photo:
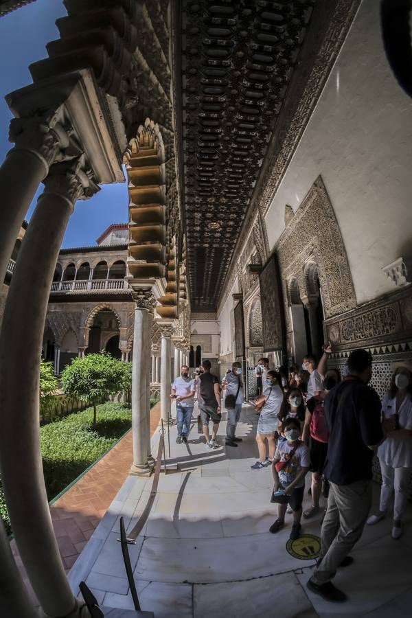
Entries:
[[182, 0], [184, 194], [194, 310], [216, 307], [313, 5]]

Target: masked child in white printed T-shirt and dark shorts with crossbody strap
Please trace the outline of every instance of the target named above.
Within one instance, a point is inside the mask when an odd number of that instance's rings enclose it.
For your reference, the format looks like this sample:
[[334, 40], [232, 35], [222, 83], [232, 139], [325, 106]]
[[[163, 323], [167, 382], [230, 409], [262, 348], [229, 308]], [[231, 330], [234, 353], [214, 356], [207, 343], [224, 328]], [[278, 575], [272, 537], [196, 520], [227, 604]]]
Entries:
[[273, 493], [281, 494], [284, 501], [279, 502], [277, 507], [277, 520], [271, 525], [269, 531], [273, 534], [279, 531], [285, 523], [286, 506], [289, 504], [293, 511], [293, 526], [289, 538], [296, 540], [301, 533], [302, 502], [304, 500], [305, 477], [309, 470], [309, 449], [299, 440], [299, 419], [286, 418], [282, 432], [286, 438], [284, 442], [278, 442], [273, 459]]

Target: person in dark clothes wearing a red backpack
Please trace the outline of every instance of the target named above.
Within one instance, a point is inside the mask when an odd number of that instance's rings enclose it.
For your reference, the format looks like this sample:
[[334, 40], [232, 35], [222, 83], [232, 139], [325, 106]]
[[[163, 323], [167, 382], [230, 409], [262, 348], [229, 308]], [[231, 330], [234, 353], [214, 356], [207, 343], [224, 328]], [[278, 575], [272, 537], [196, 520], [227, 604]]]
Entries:
[[[339, 371], [331, 369], [323, 380], [323, 390], [306, 402], [306, 417], [302, 439], [310, 451], [310, 470], [312, 472], [312, 505], [304, 512], [310, 518], [319, 512], [322, 492], [323, 468], [328, 453], [329, 430], [325, 419], [324, 401], [328, 392], [341, 381]], [[328, 481], [325, 481], [328, 483]]]

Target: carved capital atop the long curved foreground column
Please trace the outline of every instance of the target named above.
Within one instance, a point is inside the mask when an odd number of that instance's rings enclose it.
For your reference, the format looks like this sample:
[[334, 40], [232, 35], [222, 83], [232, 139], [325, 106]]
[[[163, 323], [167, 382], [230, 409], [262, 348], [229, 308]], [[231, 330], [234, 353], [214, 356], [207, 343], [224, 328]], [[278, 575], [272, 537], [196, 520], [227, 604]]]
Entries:
[[93, 179], [93, 172], [85, 170], [84, 155], [72, 161], [55, 163], [43, 180], [43, 195], [54, 194], [65, 198], [73, 208], [77, 200], [87, 200], [100, 191]]

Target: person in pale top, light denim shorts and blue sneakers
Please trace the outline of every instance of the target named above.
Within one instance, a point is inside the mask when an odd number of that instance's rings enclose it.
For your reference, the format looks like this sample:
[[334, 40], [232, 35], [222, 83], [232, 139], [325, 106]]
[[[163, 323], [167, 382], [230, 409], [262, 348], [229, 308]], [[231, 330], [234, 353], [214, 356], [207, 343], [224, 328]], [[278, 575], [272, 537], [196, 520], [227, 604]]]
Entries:
[[[258, 428], [256, 430], [256, 442], [258, 442], [259, 459], [256, 461], [252, 470], [261, 470], [269, 466], [275, 455], [275, 433], [277, 433], [277, 424], [280, 407], [282, 405], [283, 393], [279, 387], [279, 375], [273, 369], [270, 369], [266, 376], [266, 384], [264, 384], [264, 404], [260, 409], [260, 417], [258, 420]], [[266, 450], [266, 442], [268, 444]]]

